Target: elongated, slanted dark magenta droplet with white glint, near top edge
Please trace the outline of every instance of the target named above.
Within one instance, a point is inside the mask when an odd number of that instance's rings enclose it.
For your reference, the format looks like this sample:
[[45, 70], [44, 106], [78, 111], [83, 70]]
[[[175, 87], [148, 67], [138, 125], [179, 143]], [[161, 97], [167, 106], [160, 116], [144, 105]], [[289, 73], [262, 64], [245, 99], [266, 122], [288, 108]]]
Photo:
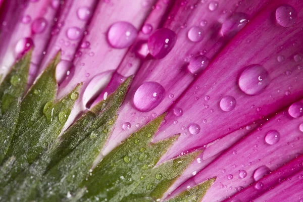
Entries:
[[245, 13], [235, 13], [222, 24], [222, 34], [228, 38], [235, 36], [248, 22]]

